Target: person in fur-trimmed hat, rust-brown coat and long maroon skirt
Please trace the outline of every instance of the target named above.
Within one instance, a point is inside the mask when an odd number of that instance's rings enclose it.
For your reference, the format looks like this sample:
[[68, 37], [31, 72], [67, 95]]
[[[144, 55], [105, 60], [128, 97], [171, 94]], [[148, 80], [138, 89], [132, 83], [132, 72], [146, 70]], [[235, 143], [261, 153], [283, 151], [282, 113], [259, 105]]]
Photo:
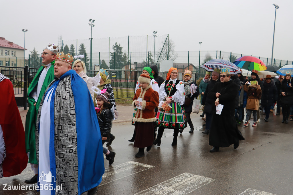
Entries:
[[[138, 81], [140, 88], [133, 97], [132, 105], [134, 108], [141, 106], [141, 109], [137, 109], [137, 113], [132, 119], [135, 122], [133, 146], [139, 148], [135, 157], [142, 157], [144, 156], [144, 148], [147, 147], [147, 151], [149, 151], [153, 145], [154, 122], [156, 121], [154, 109], [159, 105], [159, 94], [152, 89], [149, 75], [141, 74]], [[139, 101], [138, 98], [141, 98], [142, 101]]]

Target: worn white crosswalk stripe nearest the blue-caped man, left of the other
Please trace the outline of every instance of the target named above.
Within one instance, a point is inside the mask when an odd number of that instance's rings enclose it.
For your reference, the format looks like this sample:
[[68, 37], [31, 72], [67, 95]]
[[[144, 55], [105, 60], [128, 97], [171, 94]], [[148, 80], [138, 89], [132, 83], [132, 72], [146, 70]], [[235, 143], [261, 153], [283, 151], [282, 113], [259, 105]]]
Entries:
[[[108, 169], [105, 169], [105, 173], [102, 177], [102, 182], [100, 186], [108, 184], [110, 182], [114, 182], [118, 179], [122, 179], [124, 177], [128, 177], [130, 175], [139, 173], [141, 171], [147, 170], [155, 166], [146, 165], [143, 163], [137, 163], [134, 161], [128, 161], [126, 163], [122, 163], [120, 165], [115, 165]], [[115, 179], [113, 179], [115, 178]]]

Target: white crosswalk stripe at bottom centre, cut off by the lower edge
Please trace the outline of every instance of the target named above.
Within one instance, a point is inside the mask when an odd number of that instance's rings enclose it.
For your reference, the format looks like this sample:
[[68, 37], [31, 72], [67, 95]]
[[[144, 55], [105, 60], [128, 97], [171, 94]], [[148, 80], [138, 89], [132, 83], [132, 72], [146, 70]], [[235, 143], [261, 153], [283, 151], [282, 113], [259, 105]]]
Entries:
[[137, 194], [189, 194], [214, 180], [200, 175], [183, 173]]

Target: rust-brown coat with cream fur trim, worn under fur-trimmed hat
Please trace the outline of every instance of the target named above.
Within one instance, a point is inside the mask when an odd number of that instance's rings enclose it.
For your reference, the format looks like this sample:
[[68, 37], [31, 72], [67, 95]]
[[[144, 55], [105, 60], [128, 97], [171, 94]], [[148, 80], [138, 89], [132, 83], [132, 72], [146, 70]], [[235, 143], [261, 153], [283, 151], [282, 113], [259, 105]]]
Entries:
[[137, 98], [142, 98], [142, 110], [137, 109], [133, 122], [155, 122], [155, 107], [159, 105], [159, 94], [148, 85], [145, 89], [139, 88], [133, 97], [132, 106], [136, 108]]

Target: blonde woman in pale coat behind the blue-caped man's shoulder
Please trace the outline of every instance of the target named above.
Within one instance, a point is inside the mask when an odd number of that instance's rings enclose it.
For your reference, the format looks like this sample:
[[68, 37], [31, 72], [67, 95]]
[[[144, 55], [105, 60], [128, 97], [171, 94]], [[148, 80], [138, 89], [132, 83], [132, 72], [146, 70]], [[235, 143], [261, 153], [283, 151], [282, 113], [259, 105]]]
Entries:
[[86, 82], [86, 85], [88, 86], [88, 90], [91, 93], [91, 97], [93, 99], [93, 90], [91, 90], [91, 87], [94, 86], [93, 78], [90, 78], [86, 75], [86, 65], [84, 64], [84, 61], [81, 61], [80, 59], [77, 59], [74, 61], [72, 65], [72, 69], [76, 71], [76, 73]]

